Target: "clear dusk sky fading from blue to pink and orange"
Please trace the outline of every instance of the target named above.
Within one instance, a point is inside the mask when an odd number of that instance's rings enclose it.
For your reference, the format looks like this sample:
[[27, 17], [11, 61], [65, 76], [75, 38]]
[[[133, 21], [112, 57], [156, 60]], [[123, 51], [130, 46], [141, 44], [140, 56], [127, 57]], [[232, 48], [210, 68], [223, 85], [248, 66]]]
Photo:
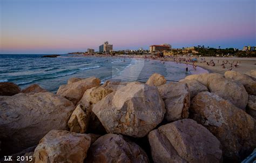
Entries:
[[256, 46], [255, 0], [0, 0], [0, 54]]

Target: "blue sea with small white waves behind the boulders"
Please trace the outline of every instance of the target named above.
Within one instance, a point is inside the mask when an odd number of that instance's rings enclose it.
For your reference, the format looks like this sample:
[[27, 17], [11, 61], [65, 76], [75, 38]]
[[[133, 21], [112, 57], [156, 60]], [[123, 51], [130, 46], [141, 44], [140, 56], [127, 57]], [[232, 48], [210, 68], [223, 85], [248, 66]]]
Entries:
[[[95, 76], [102, 84], [106, 80], [146, 82], [152, 73], [165, 76], [167, 82], [179, 81], [190, 74], [207, 73], [198, 67], [174, 62], [128, 57], [83, 57], [60, 55], [0, 55], [0, 82], [13, 82], [21, 89], [38, 84], [43, 89], [57, 92], [69, 78]], [[188, 67], [188, 72], [186, 72]]]

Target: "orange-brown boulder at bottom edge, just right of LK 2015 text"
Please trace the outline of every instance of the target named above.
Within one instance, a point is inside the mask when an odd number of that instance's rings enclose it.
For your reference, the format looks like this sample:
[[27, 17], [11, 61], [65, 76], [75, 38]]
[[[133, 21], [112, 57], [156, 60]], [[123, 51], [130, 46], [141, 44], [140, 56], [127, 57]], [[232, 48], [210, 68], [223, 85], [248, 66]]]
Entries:
[[51, 130], [34, 152], [35, 162], [83, 162], [91, 138], [86, 134]]

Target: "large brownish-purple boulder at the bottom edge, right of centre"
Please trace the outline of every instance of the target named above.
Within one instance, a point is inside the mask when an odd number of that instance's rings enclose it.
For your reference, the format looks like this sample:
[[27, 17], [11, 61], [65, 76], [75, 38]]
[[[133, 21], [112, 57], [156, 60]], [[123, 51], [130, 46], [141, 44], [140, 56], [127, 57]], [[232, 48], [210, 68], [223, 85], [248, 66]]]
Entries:
[[148, 137], [154, 162], [222, 162], [220, 141], [192, 119], [160, 126]]

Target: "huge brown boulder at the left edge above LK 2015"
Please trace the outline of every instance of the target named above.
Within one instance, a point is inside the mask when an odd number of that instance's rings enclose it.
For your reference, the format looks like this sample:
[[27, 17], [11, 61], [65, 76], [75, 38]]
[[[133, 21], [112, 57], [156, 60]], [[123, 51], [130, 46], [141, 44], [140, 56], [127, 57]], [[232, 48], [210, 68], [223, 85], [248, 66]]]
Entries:
[[4, 154], [38, 144], [52, 129], [68, 129], [75, 106], [50, 92], [0, 96], [0, 140]]

